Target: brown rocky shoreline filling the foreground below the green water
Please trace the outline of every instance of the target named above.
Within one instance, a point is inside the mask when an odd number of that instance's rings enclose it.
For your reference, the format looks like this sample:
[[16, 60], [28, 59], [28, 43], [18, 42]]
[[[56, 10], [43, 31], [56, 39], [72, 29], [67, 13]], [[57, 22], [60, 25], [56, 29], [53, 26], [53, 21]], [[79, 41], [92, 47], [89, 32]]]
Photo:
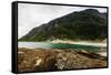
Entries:
[[107, 57], [88, 51], [24, 49], [18, 50], [19, 72], [64, 71], [107, 67]]

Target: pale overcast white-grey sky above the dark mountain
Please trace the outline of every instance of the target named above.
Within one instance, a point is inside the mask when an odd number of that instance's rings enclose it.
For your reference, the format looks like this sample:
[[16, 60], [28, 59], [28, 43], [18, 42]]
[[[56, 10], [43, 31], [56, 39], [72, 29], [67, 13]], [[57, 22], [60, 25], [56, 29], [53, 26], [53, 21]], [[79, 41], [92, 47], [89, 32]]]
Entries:
[[18, 4], [18, 39], [26, 35], [31, 29], [43, 23], [63, 17], [74, 11], [85, 9], [97, 9], [100, 12], [107, 12], [105, 8], [89, 7], [69, 7], [69, 6], [50, 6], [50, 4]]

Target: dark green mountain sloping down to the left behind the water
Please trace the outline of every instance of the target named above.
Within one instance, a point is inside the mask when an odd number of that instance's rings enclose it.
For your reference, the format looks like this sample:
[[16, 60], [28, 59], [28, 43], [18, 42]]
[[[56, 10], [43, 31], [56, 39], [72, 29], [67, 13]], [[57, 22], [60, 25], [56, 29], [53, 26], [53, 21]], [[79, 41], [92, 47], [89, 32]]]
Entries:
[[95, 9], [75, 11], [33, 28], [19, 41], [103, 40], [107, 38], [107, 13]]

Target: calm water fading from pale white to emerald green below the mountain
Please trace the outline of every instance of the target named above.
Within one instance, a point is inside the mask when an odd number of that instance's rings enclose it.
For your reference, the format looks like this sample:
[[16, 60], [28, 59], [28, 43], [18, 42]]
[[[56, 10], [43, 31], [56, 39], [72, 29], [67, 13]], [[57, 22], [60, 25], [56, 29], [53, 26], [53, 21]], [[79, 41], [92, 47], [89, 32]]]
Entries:
[[[49, 43], [49, 42], [19, 42], [18, 47], [31, 47], [31, 49], [74, 49], [74, 50], [88, 50], [91, 52], [105, 51], [104, 46], [83, 45], [83, 44], [62, 44], [62, 43]], [[93, 50], [93, 51], [92, 51]]]

